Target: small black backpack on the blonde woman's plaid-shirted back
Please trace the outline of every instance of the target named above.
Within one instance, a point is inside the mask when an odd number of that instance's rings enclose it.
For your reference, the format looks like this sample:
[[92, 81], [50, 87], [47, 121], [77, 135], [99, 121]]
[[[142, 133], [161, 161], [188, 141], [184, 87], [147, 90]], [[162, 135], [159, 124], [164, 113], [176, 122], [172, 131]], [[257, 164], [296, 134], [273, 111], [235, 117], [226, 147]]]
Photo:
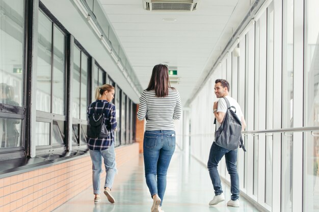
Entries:
[[[96, 103], [97, 104], [97, 103]], [[110, 135], [110, 131], [107, 129], [107, 126], [104, 123], [104, 110], [105, 106], [101, 113], [97, 113], [95, 106], [92, 106], [94, 113], [89, 118], [90, 129], [88, 132], [88, 137], [90, 138], [107, 138]]]

